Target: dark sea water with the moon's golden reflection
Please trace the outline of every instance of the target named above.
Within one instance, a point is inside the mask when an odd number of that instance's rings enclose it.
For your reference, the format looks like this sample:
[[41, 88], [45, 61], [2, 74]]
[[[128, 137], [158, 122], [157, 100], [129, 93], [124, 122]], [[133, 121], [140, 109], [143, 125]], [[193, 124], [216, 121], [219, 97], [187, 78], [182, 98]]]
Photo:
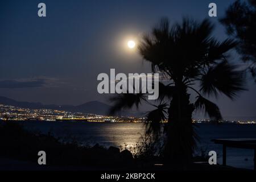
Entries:
[[[30, 131], [44, 134], [52, 133], [63, 140], [76, 140], [80, 144], [93, 146], [98, 143], [109, 146], [133, 146], [145, 134], [143, 123], [106, 123], [106, 122], [22, 122]], [[256, 138], [255, 124], [238, 123], [197, 123], [199, 136], [196, 154], [201, 151], [217, 152], [217, 162], [222, 164], [222, 146], [214, 144], [218, 138]], [[227, 148], [227, 165], [253, 169], [254, 151], [241, 148]]]

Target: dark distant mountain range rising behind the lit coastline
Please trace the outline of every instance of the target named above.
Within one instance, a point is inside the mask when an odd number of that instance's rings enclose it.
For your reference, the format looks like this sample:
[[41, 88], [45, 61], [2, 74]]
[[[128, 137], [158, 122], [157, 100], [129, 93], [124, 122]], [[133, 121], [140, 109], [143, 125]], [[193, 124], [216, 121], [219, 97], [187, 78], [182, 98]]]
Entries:
[[[107, 115], [110, 110], [110, 105], [104, 104], [99, 101], [90, 101], [85, 104], [73, 106], [73, 105], [43, 105], [40, 102], [21, 102], [15, 101], [11, 98], [1, 97], [0, 96], [0, 104], [10, 105], [15, 107], [23, 107], [28, 109], [55, 109], [55, 110], [65, 110], [71, 112], [79, 112], [85, 114], [99, 114], [99, 115]], [[129, 113], [127, 111], [122, 111], [119, 113], [125, 116], [141, 116], [142, 113]]]

